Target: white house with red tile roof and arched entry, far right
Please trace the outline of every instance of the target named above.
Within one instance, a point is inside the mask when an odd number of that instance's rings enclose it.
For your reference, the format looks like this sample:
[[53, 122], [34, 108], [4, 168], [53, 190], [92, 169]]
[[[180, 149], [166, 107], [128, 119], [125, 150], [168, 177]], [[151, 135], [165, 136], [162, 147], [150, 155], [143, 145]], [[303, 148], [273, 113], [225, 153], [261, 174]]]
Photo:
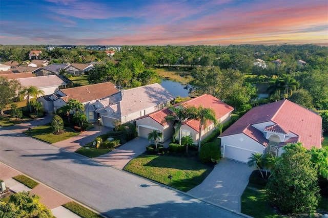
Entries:
[[322, 119], [289, 100], [252, 108], [224, 131], [221, 138], [222, 157], [247, 163], [251, 154], [269, 152], [280, 156], [287, 143], [321, 147]]

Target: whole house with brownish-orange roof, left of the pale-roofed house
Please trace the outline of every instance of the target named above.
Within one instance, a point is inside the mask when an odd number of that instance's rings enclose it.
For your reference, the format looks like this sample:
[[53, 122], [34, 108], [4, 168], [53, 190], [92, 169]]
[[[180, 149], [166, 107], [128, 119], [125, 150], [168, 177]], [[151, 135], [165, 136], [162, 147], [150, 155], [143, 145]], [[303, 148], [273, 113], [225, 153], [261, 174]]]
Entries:
[[118, 92], [119, 90], [116, 89], [116, 85], [111, 82], [104, 82], [69, 89], [61, 89], [54, 92], [52, 95], [39, 98], [38, 101], [44, 102], [45, 111], [55, 112], [58, 108], [67, 104], [69, 99], [76, 99], [85, 105], [85, 114], [88, 117], [88, 121], [94, 122], [98, 117], [95, 113], [97, 107], [94, 107], [91, 102], [95, 102], [98, 99], [105, 98]]

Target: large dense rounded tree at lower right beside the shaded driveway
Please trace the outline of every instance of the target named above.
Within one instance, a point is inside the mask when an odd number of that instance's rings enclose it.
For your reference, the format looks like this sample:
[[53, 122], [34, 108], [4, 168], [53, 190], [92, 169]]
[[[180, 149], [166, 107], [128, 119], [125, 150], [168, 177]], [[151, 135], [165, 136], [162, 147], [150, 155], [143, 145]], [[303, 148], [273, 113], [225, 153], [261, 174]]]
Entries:
[[269, 200], [283, 212], [312, 212], [318, 205], [317, 171], [301, 144], [288, 144], [267, 185]]

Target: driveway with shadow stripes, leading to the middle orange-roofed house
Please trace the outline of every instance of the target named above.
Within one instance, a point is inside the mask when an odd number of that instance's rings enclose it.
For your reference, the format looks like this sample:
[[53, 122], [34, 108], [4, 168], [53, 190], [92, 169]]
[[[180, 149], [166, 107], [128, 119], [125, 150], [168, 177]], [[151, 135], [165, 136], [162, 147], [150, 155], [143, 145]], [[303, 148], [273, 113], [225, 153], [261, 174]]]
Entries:
[[[164, 147], [168, 147], [169, 142], [170, 140], [163, 143]], [[146, 151], [146, 146], [149, 144], [148, 139], [137, 137], [124, 145], [115, 148], [108, 154], [94, 158], [94, 160], [116, 169], [123, 169], [129, 161], [144, 153]]]

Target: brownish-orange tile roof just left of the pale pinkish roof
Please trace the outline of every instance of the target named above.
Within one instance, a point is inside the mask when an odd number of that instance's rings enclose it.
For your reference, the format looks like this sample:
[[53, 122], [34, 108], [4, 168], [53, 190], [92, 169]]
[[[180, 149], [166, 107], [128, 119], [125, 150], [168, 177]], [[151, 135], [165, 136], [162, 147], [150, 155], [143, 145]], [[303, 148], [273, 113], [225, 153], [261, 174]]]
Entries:
[[79, 86], [60, 91], [66, 95], [65, 97], [61, 97], [65, 102], [67, 102], [68, 99], [77, 99], [81, 103], [105, 98], [119, 92], [111, 82]]

